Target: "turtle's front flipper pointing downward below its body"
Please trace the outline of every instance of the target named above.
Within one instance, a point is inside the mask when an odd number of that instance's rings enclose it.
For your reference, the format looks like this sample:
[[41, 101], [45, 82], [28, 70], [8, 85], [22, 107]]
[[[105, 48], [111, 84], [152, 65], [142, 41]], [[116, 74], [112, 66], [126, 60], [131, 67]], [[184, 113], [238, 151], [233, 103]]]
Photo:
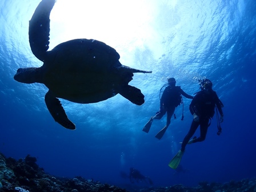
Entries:
[[56, 122], [58, 122], [67, 129], [75, 130], [75, 124], [67, 118], [61, 102], [59, 101], [59, 99], [54, 97], [54, 95], [51, 94], [50, 91], [48, 91], [45, 95], [45, 103], [51, 116], [53, 116]]

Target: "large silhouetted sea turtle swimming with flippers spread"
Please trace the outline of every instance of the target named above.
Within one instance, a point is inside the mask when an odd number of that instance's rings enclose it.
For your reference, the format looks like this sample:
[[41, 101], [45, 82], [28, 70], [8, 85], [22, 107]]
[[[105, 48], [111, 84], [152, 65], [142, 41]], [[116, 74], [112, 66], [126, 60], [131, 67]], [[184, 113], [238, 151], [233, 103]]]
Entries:
[[128, 85], [133, 73], [151, 73], [119, 62], [115, 49], [94, 39], [73, 39], [49, 49], [50, 12], [55, 0], [42, 0], [29, 22], [30, 47], [41, 67], [20, 68], [14, 79], [22, 83], [43, 83], [49, 89], [45, 103], [54, 120], [74, 130], [58, 98], [75, 103], [95, 103], [121, 94], [142, 105], [141, 90]]

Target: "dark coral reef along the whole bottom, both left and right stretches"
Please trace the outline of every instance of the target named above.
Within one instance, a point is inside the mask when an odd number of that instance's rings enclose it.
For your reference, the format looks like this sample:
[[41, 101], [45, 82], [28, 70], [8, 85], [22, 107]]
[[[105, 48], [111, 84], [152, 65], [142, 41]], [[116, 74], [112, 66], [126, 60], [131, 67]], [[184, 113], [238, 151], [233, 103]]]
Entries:
[[[0, 192], [125, 192], [117, 186], [102, 184], [82, 177], [64, 178], [46, 174], [37, 165], [37, 158], [27, 155], [25, 159], [6, 158], [0, 153]], [[256, 192], [256, 178], [230, 181], [228, 183], [200, 182], [197, 187], [174, 185], [133, 189], [133, 192]]]

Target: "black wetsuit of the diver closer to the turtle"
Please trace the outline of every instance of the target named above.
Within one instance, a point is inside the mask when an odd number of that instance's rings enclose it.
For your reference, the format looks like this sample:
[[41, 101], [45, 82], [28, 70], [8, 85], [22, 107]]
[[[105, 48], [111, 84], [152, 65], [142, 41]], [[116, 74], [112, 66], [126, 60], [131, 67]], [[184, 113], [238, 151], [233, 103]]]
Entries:
[[171, 123], [171, 116], [174, 113], [175, 107], [181, 103], [181, 95], [186, 98], [193, 99], [193, 96], [186, 94], [180, 86], [167, 86], [163, 91], [160, 101], [160, 111], [156, 115], [155, 119], [161, 119], [167, 112], [166, 126], [168, 127]]

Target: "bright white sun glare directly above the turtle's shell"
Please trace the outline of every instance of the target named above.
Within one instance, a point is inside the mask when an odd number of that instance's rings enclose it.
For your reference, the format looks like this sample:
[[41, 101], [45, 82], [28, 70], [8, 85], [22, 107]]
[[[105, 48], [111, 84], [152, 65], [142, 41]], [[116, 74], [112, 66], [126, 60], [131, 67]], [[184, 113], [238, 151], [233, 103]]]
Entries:
[[[145, 1], [57, 1], [51, 11], [51, 43], [97, 39], [113, 47], [150, 35], [153, 3]], [[137, 42], [139, 45], [139, 42]]]

